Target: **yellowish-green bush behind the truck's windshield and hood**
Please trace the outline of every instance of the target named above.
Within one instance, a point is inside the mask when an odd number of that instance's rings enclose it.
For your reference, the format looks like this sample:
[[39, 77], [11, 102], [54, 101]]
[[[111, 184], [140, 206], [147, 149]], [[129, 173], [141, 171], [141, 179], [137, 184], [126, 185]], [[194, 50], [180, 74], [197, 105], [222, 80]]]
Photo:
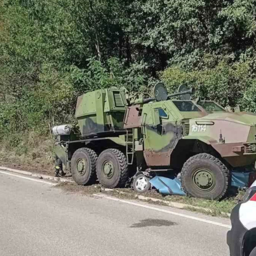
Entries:
[[242, 106], [243, 110], [256, 111], [256, 80], [252, 78], [250, 62], [229, 64], [219, 62], [213, 68], [186, 71], [179, 66], [172, 66], [161, 73], [170, 92], [177, 91], [181, 84], [196, 89], [196, 96], [202, 100], [214, 100], [222, 106]]

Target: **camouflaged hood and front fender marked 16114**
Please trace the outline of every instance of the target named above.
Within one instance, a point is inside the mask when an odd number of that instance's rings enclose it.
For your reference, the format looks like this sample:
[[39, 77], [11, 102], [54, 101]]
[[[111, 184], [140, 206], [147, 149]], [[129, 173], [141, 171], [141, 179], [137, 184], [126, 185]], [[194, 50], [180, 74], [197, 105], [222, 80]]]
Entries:
[[221, 112], [190, 119], [190, 132], [184, 139], [195, 138], [204, 138], [201, 141], [211, 145], [233, 167], [254, 163], [256, 152], [247, 149], [249, 144], [256, 145], [256, 114]]

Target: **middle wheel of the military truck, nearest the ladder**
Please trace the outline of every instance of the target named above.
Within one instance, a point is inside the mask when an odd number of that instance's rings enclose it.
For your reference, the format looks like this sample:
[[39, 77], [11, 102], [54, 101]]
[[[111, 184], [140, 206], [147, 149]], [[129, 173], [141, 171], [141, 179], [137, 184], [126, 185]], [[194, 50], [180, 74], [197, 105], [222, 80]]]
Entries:
[[104, 187], [123, 187], [128, 180], [128, 163], [124, 153], [117, 149], [102, 151], [97, 160], [96, 172]]

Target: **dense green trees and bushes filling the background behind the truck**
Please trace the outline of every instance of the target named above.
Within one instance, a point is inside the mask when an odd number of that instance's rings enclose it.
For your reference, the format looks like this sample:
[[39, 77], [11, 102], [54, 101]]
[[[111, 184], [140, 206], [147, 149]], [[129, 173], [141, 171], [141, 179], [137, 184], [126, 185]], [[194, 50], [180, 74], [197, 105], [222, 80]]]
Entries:
[[0, 0], [0, 136], [71, 122], [77, 95], [197, 88], [256, 111], [256, 0]]

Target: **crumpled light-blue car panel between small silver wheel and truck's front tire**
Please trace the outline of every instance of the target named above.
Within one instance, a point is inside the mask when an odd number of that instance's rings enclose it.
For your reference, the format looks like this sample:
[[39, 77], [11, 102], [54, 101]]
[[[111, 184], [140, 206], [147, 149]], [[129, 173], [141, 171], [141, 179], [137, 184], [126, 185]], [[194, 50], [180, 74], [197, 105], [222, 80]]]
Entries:
[[186, 195], [181, 189], [181, 181], [176, 177], [162, 177], [155, 176], [150, 180], [152, 186], [154, 186], [161, 194], [165, 195]]

